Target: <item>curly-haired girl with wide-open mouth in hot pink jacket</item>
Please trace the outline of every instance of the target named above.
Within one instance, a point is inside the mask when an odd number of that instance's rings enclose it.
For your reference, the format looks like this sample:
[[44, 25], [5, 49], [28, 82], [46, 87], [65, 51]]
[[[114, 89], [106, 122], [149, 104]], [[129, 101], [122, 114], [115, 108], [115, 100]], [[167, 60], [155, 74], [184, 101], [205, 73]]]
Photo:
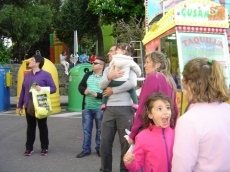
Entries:
[[136, 136], [134, 150], [125, 154], [125, 166], [132, 172], [170, 172], [174, 142], [171, 100], [163, 93], [154, 93], [145, 107], [144, 129]]

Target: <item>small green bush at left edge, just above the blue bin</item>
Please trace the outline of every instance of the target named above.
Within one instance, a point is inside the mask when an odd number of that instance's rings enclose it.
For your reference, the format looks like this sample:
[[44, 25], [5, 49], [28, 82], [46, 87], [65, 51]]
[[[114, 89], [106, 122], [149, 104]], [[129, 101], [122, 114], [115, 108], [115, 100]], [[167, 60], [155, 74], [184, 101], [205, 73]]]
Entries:
[[9, 63], [12, 56], [12, 49], [4, 46], [3, 40], [0, 39], [0, 64]]

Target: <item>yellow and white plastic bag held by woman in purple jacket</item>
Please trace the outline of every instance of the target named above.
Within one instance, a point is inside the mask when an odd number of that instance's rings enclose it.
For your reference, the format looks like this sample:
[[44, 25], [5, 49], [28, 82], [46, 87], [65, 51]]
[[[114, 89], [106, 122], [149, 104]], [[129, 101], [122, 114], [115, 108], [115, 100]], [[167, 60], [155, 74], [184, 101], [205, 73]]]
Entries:
[[50, 87], [41, 87], [40, 91], [32, 90], [35, 117], [46, 118], [52, 113]]

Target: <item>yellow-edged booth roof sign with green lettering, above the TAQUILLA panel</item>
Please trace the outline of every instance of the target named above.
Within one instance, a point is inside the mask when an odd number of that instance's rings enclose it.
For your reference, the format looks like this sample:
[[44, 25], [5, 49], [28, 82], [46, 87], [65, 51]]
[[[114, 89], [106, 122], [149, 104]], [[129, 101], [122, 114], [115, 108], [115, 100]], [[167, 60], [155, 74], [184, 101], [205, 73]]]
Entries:
[[146, 33], [143, 44], [147, 44], [175, 26], [228, 28], [228, 10], [209, 0], [183, 1], [154, 23]]

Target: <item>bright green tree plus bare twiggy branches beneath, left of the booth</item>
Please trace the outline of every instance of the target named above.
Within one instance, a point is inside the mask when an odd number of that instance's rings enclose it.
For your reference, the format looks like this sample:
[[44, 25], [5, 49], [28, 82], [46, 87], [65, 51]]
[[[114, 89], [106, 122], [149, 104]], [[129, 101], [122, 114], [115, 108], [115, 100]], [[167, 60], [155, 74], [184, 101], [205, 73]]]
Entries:
[[144, 37], [145, 0], [90, 0], [88, 10], [100, 15], [101, 24], [113, 26], [118, 42]]

